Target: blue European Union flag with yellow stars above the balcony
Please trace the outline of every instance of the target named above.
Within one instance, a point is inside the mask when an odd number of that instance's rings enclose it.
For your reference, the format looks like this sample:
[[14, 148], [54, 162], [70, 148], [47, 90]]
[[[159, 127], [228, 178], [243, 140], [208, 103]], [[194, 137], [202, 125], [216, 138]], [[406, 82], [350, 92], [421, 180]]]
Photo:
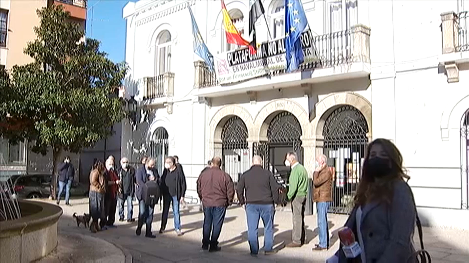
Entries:
[[287, 71], [292, 72], [304, 62], [300, 36], [308, 21], [299, 0], [285, 0], [285, 49]]

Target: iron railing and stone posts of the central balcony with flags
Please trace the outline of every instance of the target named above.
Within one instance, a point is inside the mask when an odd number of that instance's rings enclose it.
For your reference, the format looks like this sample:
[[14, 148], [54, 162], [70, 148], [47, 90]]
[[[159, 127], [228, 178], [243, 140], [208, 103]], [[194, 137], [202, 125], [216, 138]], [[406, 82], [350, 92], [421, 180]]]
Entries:
[[[369, 28], [357, 25], [352, 27], [351, 30], [312, 37], [319, 61], [302, 64], [299, 66], [298, 71], [328, 68], [352, 62], [369, 63], [369, 34]], [[203, 88], [219, 84], [215, 74], [209, 70], [203, 61], [195, 61], [194, 66], [200, 67], [199, 71], [196, 70], [194, 87]], [[270, 75], [286, 73], [287, 71], [284, 69], [271, 71]]]

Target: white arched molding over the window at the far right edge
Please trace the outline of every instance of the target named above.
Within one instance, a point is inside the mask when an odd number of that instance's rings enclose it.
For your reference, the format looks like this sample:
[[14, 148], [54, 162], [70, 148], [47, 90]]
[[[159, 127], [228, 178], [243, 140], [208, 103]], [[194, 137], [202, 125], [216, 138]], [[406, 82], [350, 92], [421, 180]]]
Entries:
[[469, 109], [469, 94], [457, 99], [457, 101], [448, 103], [447, 106], [441, 114], [440, 120], [441, 139], [443, 141], [449, 140], [449, 130], [459, 130], [461, 128], [461, 118]]

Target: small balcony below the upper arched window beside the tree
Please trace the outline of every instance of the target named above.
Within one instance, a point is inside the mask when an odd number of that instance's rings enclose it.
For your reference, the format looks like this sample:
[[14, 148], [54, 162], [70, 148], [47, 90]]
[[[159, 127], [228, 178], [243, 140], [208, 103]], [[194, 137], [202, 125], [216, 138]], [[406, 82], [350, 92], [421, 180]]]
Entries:
[[144, 106], [147, 108], [164, 106], [168, 113], [172, 113], [174, 73], [167, 72], [154, 77], [144, 77], [142, 85]]

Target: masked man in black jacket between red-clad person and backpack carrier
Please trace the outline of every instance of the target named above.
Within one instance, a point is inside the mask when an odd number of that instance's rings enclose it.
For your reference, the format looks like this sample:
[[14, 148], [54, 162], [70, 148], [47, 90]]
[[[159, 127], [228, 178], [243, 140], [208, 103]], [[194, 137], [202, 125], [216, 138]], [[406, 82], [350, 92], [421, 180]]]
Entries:
[[119, 221], [124, 221], [124, 204], [127, 201], [127, 222], [134, 222], [132, 199], [134, 194], [135, 169], [128, 164], [127, 157], [121, 159], [121, 167], [117, 170], [120, 179], [117, 198], [119, 199]]

